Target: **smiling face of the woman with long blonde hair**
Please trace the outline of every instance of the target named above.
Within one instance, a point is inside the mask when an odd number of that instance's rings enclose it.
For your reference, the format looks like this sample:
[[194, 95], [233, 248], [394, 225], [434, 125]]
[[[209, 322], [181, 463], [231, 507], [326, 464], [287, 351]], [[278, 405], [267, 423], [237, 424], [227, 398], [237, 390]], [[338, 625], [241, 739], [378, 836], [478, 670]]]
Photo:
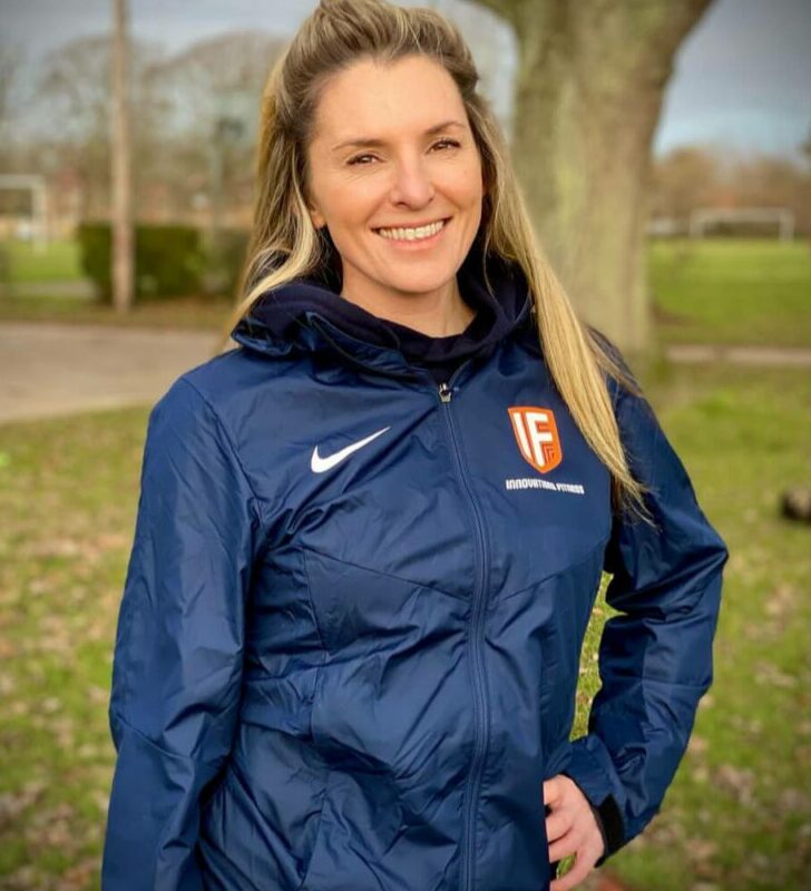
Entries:
[[481, 221], [481, 159], [436, 61], [355, 62], [325, 85], [307, 147], [309, 202], [343, 264], [342, 294], [392, 316], [458, 296]]

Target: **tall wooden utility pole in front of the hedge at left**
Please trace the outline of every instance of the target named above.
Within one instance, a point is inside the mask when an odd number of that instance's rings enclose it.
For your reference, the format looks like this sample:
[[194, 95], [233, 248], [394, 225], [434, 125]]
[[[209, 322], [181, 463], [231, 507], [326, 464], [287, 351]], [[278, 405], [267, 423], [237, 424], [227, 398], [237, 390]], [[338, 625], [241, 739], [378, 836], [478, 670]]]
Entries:
[[133, 306], [135, 281], [127, 0], [114, 0], [111, 68], [113, 304], [116, 312], [127, 313]]

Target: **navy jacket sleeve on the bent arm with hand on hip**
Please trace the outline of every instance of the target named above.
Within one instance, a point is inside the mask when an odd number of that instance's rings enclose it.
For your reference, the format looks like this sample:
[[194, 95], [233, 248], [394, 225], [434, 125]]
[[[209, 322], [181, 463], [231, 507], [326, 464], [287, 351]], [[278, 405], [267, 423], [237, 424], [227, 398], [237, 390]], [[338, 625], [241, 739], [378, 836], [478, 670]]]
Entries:
[[627, 513], [614, 521], [606, 600], [619, 615], [603, 630], [588, 733], [574, 741], [564, 770], [600, 817], [606, 850], [597, 865], [651, 821], [684, 755], [712, 683], [727, 557], [647, 402], [621, 390], [615, 409], [653, 525]]

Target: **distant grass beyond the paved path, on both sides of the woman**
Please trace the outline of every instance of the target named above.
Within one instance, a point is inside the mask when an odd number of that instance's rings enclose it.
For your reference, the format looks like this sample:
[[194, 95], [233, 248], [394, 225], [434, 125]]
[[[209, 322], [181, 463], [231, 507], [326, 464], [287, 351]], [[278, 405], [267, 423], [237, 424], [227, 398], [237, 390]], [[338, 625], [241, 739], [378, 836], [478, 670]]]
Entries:
[[[78, 276], [70, 243], [45, 257], [26, 245], [11, 251], [12, 280], [40, 283]], [[665, 344], [721, 343], [811, 346], [811, 245], [776, 241], [655, 241], [648, 245], [649, 287]], [[67, 296], [0, 300], [4, 320], [50, 320], [141, 327], [218, 329], [227, 300], [144, 303], [119, 317], [109, 306]]]

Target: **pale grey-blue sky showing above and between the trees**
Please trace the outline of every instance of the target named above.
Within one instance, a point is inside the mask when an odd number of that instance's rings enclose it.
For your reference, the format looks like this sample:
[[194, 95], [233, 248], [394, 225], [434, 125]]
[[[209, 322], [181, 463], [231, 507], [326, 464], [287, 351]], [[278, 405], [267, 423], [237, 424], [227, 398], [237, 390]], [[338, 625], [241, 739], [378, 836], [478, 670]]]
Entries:
[[[460, 0], [411, 0], [456, 16]], [[228, 30], [291, 35], [314, 0], [129, 0], [136, 37], [180, 50]], [[110, 27], [111, 0], [0, 0], [0, 40], [32, 67]], [[505, 41], [506, 38], [506, 41]], [[501, 35], [508, 47], [511, 39]], [[514, 60], [505, 58], [505, 70]], [[811, 0], [715, 0], [676, 57], [654, 149], [709, 145], [798, 157], [811, 133]]]

